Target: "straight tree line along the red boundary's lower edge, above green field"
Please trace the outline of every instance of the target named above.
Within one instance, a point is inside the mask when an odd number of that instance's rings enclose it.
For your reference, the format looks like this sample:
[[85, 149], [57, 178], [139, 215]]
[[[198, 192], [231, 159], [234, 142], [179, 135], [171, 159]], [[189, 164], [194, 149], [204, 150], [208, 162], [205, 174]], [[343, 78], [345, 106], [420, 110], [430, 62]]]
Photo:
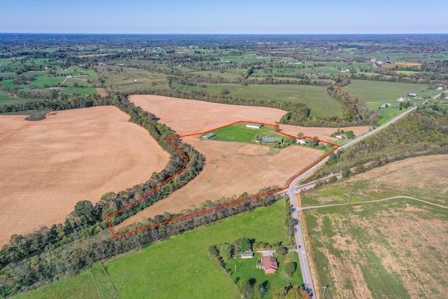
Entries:
[[[263, 188], [258, 194], [269, 193], [276, 189], [276, 187]], [[99, 230], [99, 232], [92, 236], [80, 237], [78, 235], [70, 244], [65, 244], [52, 250], [45, 250], [40, 254], [9, 263], [3, 267], [0, 271], [0, 295], [6, 297], [18, 291], [29, 291], [38, 286], [46, 285], [55, 279], [78, 274], [85, 267], [89, 267], [92, 263], [99, 260], [111, 258], [130, 250], [141, 249], [154, 242], [179, 235], [187, 230], [193, 230], [193, 228], [197, 228], [198, 226], [207, 225], [244, 211], [251, 211], [256, 207], [265, 207], [279, 200], [279, 195], [269, 194], [228, 205], [228, 203], [244, 200], [249, 196], [247, 193], [244, 193], [239, 197], [223, 198], [217, 202], [205, 202], [197, 209], [186, 211], [183, 214], [165, 213], [159, 217], [156, 216], [155, 218], [158, 218], [157, 221], [156, 219], [148, 218], [144, 223], [130, 225], [126, 230], [145, 228], [161, 220], [167, 221], [190, 214], [191, 212], [195, 213], [204, 209], [223, 206], [221, 209], [183, 218], [179, 221], [160, 225], [148, 230], [141, 230], [116, 239], [111, 238], [110, 231], [107, 229]]]

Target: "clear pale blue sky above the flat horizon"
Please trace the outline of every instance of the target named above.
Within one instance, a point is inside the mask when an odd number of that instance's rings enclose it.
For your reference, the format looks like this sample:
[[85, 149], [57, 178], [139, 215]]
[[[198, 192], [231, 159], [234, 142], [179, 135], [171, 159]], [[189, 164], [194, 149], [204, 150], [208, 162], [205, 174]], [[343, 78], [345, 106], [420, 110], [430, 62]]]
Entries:
[[0, 32], [447, 34], [447, 0], [0, 0]]

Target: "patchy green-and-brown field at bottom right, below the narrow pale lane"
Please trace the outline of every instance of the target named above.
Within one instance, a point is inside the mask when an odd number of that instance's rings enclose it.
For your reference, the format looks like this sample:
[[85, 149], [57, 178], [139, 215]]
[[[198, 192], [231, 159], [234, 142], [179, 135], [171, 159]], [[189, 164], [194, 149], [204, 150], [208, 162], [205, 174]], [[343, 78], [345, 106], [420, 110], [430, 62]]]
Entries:
[[329, 298], [446, 298], [447, 209], [400, 198], [305, 213]]

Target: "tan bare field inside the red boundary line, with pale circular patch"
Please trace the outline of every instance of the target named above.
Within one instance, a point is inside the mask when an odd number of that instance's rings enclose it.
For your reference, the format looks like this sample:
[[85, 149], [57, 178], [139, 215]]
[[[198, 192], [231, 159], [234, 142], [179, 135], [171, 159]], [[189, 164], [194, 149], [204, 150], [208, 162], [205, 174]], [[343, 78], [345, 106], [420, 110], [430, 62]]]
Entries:
[[148, 217], [154, 218], [165, 211], [178, 213], [207, 200], [215, 201], [244, 192], [253, 194], [267, 186], [283, 187], [288, 179], [323, 155], [323, 151], [304, 146], [288, 146], [281, 151], [272, 148], [274, 152], [266, 155], [241, 155], [238, 151], [246, 144], [201, 140], [198, 136], [184, 137], [183, 141], [205, 155], [206, 165], [202, 172], [183, 188], [127, 218], [114, 230]]

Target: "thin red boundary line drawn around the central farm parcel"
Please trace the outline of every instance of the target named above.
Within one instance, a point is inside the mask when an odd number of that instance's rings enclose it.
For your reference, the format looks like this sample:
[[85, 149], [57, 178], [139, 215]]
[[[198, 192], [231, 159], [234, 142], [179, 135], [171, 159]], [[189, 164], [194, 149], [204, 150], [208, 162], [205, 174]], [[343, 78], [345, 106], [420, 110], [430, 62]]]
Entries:
[[[223, 205], [221, 205], [221, 206], [214, 207], [214, 208], [211, 208], [211, 209], [207, 209], [207, 210], [204, 210], [204, 211], [198, 211], [198, 212], [196, 212], [196, 213], [188, 214], [188, 215], [185, 215], [185, 216], [181, 216], [181, 217], [172, 219], [172, 220], [170, 220], [170, 221], [165, 221], [165, 222], [161, 222], [161, 223], [156, 223], [156, 224], [153, 224], [153, 225], [150, 225], [150, 226], [146, 226], [145, 228], [139, 228], [138, 230], [132, 230], [132, 231], [130, 231], [130, 232], [123, 232], [122, 234], [118, 234], [118, 235], [116, 235], [115, 232], [113, 232], [113, 228], [112, 228], [112, 225], [111, 225], [111, 217], [115, 216], [116, 214], [118, 214], [118, 213], [120, 213], [120, 212], [122, 212], [122, 211], [125, 211], [125, 209], [127, 209], [127, 208], [129, 208], [129, 207], [132, 207], [134, 204], [137, 204], [137, 202], [140, 202], [141, 200], [144, 200], [146, 197], [148, 197], [148, 195], [151, 195], [151, 193], [154, 193], [155, 190], [158, 190], [160, 187], [162, 187], [163, 185], [165, 185], [165, 183], [167, 183], [169, 180], [173, 179], [174, 176], [178, 175], [179, 173], [181, 173], [181, 171], [182, 171], [183, 169], [185, 169], [185, 167], [186, 167], [186, 165], [187, 165], [187, 163], [188, 163], [188, 160], [189, 160], [189, 159], [188, 159], [188, 156], [187, 156], [185, 153], [183, 153], [183, 151], [181, 151], [181, 149], [180, 149], [179, 147], [177, 147], [176, 144], [173, 143], [172, 139], [178, 139], [178, 138], [182, 138], [182, 137], [190, 137], [190, 136], [196, 136], [196, 135], [207, 134], [207, 133], [209, 133], [209, 132], [212, 132], [212, 131], [215, 131], [215, 130], [222, 129], [223, 127], [229, 127], [230, 125], [236, 125], [237, 123], [254, 123], [254, 124], [259, 124], [259, 125], [267, 125], [267, 126], [269, 126], [269, 127], [276, 127], [276, 132], [279, 133], [279, 134], [282, 134], [282, 135], [284, 135], [284, 136], [292, 137], [292, 138], [294, 138], [294, 139], [304, 139], [304, 138], [307, 138], [307, 139], [313, 139], [313, 140], [316, 140], [316, 141], [321, 142], [321, 143], [323, 143], [323, 144], [329, 144], [330, 146], [335, 146], [335, 148], [333, 148], [333, 150], [330, 151], [329, 153], [323, 155], [323, 157], [320, 158], [319, 160], [317, 160], [316, 162], [314, 162], [313, 165], [311, 165], [311, 166], [308, 167], [307, 169], [304, 169], [304, 171], [300, 172], [300, 174], [297, 174], [296, 176], [293, 176], [293, 178], [290, 179], [290, 181], [288, 182], [288, 185], [287, 185], [285, 188], [280, 188], [280, 189], [273, 190], [273, 191], [270, 191], [270, 192], [267, 192], [267, 193], [263, 193], [263, 194], [260, 194], [260, 195], [255, 195], [255, 196], [252, 196], [252, 197], [247, 197], [247, 198], [245, 198], [244, 200], [237, 200], [236, 202], [230, 202], [230, 203], [228, 203], [228, 204], [223, 204]], [[297, 176], [300, 176], [300, 175], [303, 174], [304, 172], [307, 172], [309, 169], [311, 169], [312, 167], [314, 167], [315, 165], [317, 165], [318, 162], [321, 162], [323, 159], [325, 159], [326, 157], [328, 157], [328, 155], [330, 155], [332, 152], [336, 151], [337, 148], [339, 148], [339, 145], [337, 145], [337, 144], [333, 144], [333, 143], [331, 143], [331, 142], [329, 142], [329, 141], [324, 141], [324, 140], [320, 140], [320, 139], [315, 139], [315, 138], [313, 138], [313, 137], [308, 137], [308, 136], [304, 136], [304, 137], [295, 137], [295, 136], [293, 136], [293, 135], [290, 135], [290, 134], [286, 134], [286, 133], [280, 132], [279, 125], [271, 125], [271, 124], [269, 124], [269, 123], [257, 123], [257, 122], [248, 121], [248, 120], [239, 120], [239, 121], [237, 121], [237, 122], [235, 122], [235, 123], [230, 123], [229, 125], [223, 125], [222, 127], [216, 127], [216, 128], [213, 129], [213, 130], [208, 130], [208, 131], [205, 131], [205, 132], [194, 133], [194, 134], [186, 134], [186, 135], [176, 136], [176, 137], [169, 137], [169, 138], [168, 138], [168, 141], [169, 141], [169, 143], [172, 144], [172, 146], [174, 146], [174, 148], [176, 148], [177, 151], [179, 151], [179, 153], [181, 153], [181, 154], [186, 158], [185, 163], [183, 163], [183, 166], [181, 167], [181, 169], [179, 169], [179, 172], [176, 172], [176, 174], [173, 174], [172, 176], [170, 176], [170, 177], [169, 177], [168, 179], [166, 179], [164, 182], [160, 183], [159, 186], [155, 187], [153, 190], [151, 190], [150, 192], [146, 193], [145, 195], [143, 195], [142, 197], [140, 197], [138, 200], [136, 200], [136, 201], [134, 201], [134, 202], [128, 204], [126, 207], [123, 207], [122, 209], [119, 209], [119, 210], [116, 211], [115, 213], [110, 214], [109, 216], [106, 217], [107, 222], [109, 223], [109, 228], [111, 229], [111, 232], [112, 232], [112, 237], [113, 237], [114, 239], [117, 238], [117, 237], [123, 237], [123, 236], [125, 236], [125, 235], [130, 235], [130, 234], [132, 234], [132, 233], [134, 233], [134, 232], [139, 232], [139, 231], [141, 231], [141, 230], [148, 230], [148, 229], [150, 229], [150, 228], [155, 228], [156, 226], [165, 225], [165, 224], [167, 224], [167, 223], [171, 223], [171, 222], [174, 222], [174, 221], [179, 221], [179, 220], [182, 220], [182, 219], [185, 219], [185, 218], [190, 218], [190, 217], [197, 216], [197, 215], [204, 214], [204, 213], [208, 213], [208, 212], [210, 212], [210, 211], [214, 211], [214, 210], [217, 210], [217, 209], [222, 209], [223, 207], [229, 207], [229, 206], [231, 206], [231, 205], [233, 205], [233, 204], [239, 204], [239, 203], [241, 203], [241, 202], [246, 202], [246, 201], [248, 201], [248, 200], [253, 200], [253, 199], [258, 198], [258, 197], [262, 197], [262, 196], [265, 196], [265, 195], [270, 195], [270, 194], [274, 194], [274, 193], [278, 193], [278, 192], [280, 192], [280, 191], [286, 190], [286, 189], [289, 188], [289, 186], [290, 186], [290, 184], [293, 182], [293, 180], [294, 180], [295, 178], [297, 178]]]

